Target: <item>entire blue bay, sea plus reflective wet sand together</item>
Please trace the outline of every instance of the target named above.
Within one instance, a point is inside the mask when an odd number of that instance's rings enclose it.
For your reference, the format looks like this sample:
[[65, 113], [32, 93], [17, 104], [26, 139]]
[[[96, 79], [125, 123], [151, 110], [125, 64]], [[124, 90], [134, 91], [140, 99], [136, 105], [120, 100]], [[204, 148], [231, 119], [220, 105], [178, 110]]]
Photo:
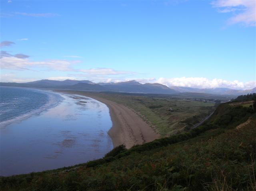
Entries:
[[113, 148], [109, 109], [97, 100], [1, 87], [0, 102], [0, 175], [84, 163]]

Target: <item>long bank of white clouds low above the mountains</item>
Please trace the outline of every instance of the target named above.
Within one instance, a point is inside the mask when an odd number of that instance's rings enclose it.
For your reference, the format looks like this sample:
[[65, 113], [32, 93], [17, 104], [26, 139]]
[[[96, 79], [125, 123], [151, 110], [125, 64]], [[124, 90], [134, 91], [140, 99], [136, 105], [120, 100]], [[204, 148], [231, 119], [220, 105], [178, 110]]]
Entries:
[[[220, 1], [217, 1], [220, 2]], [[229, 1], [226, 1], [229, 2]], [[240, 1], [238, 1], [240, 2]], [[8, 47], [14, 45], [12, 41], [2, 41], [1, 47]], [[76, 69], [75, 64], [81, 63], [80, 60], [62, 60], [52, 59], [44, 61], [33, 61], [29, 59], [30, 56], [25, 54], [10, 54], [7, 51], [0, 52], [1, 70], [13, 70], [13, 71], [64, 71], [70, 72], [69, 77], [51, 77], [51, 79], [64, 80], [64, 79], [86, 79], [94, 82], [120, 82], [134, 80], [136, 72], [131, 71], [118, 71], [111, 68], [91, 68], [91, 69]], [[66, 56], [72, 58], [78, 58], [79, 56]], [[4, 76], [6, 75], [6, 76]], [[26, 81], [26, 79], [14, 78], [12, 75], [4, 74], [2, 80], [4, 81]], [[255, 78], [255, 77], [254, 77]], [[180, 78], [164, 78], [158, 79], [135, 79], [140, 83], [160, 83], [168, 87], [180, 86], [180, 87], [192, 87], [192, 88], [230, 88], [230, 89], [252, 89], [256, 87], [256, 81], [241, 82], [238, 80], [227, 81], [224, 79], [207, 79], [205, 77], [180, 77]], [[32, 81], [27, 79], [27, 81]]]

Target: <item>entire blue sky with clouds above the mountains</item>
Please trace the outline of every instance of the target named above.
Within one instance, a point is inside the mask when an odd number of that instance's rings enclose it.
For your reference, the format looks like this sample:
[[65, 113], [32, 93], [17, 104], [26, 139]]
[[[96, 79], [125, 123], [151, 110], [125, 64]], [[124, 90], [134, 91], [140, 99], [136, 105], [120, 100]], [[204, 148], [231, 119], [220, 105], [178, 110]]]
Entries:
[[1, 0], [0, 80], [256, 87], [254, 0]]

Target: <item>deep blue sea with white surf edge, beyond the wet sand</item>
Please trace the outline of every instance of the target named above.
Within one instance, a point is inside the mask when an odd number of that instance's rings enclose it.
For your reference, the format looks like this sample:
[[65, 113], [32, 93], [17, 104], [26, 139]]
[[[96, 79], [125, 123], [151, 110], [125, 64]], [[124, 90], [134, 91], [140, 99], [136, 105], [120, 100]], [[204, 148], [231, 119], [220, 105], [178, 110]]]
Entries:
[[48, 91], [0, 86], [0, 128], [40, 114], [61, 100], [60, 95]]

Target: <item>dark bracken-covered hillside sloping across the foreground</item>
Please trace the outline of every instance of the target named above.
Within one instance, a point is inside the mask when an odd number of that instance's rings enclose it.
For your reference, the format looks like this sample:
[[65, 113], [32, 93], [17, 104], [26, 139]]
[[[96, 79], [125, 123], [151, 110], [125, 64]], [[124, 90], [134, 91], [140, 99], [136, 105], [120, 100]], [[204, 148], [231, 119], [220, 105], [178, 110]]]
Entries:
[[255, 160], [256, 110], [229, 102], [185, 133], [73, 167], [1, 177], [0, 190], [256, 191]]

